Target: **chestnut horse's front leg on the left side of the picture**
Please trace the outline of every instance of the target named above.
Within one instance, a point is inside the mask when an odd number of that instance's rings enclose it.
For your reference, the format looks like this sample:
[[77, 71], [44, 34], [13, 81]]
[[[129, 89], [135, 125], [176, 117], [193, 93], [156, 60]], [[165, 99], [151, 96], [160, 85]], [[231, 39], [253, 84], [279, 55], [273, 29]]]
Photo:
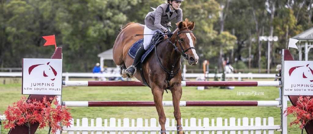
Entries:
[[153, 94], [154, 103], [156, 106], [156, 111], [157, 111], [157, 114], [159, 115], [159, 123], [161, 125], [161, 132], [165, 134], [166, 117], [165, 117], [163, 104], [162, 104], [164, 89], [159, 88], [159, 87], [154, 87], [154, 88], [151, 88], [151, 90]]

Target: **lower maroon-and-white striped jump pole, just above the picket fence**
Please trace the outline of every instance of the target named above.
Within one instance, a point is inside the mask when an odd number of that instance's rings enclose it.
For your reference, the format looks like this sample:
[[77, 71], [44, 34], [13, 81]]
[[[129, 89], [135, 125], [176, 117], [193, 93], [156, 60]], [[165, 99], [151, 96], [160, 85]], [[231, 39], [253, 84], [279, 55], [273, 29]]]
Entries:
[[[153, 101], [63, 101], [67, 107], [154, 107]], [[180, 101], [185, 107], [234, 107], [234, 106], [279, 106], [280, 101]], [[163, 106], [173, 106], [172, 101], [163, 101]]]

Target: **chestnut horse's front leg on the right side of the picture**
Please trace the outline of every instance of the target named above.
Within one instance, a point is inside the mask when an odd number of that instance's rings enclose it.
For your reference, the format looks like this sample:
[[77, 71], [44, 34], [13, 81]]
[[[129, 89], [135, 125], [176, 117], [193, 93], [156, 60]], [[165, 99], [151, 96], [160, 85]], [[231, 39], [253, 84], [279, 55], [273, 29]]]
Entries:
[[173, 106], [174, 106], [174, 117], [177, 122], [177, 134], [183, 134], [184, 132], [182, 131], [182, 123], [181, 123], [182, 115], [180, 113], [180, 108], [179, 108], [180, 98], [182, 98], [181, 84], [179, 83], [179, 84], [174, 85], [171, 89], [171, 92], [172, 92], [172, 99], [173, 99]]

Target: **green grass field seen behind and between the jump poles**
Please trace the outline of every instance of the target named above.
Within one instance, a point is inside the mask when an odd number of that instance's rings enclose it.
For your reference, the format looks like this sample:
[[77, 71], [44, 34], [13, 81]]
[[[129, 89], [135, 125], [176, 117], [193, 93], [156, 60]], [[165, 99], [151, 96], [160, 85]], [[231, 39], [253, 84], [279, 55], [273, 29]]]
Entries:
[[[254, 79], [255, 80], [255, 79]], [[3, 81], [3, 79], [0, 79]], [[21, 97], [20, 82], [8, 82], [0, 84], [0, 114], [2, 115], [8, 105], [16, 102]], [[263, 92], [264, 95], [242, 96], [237, 92]], [[151, 90], [146, 87], [68, 87], [63, 88], [63, 101], [153, 101]], [[200, 100], [275, 100], [278, 97], [278, 88], [275, 87], [235, 87], [233, 90], [211, 88], [197, 90], [196, 87], [183, 87], [182, 99], [184, 101]], [[164, 101], [171, 101], [171, 93], [164, 93]], [[173, 108], [165, 107], [166, 116], [174, 118]], [[72, 116], [76, 118], [110, 117], [131, 119], [136, 118], [157, 118], [154, 107], [73, 107], [70, 110]], [[182, 118], [242, 118], [242, 117], [274, 117], [275, 125], [280, 125], [280, 108], [276, 107], [181, 107]], [[289, 122], [294, 117], [289, 116]], [[8, 130], [1, 126], [1, 133], [8, 133]], [[47, 129], [37, 131], [38, 134], [48, 133]], [[280, 132], [275, 132], [278, 134]], [[298, 126], [288, 126], [288, 133], [300, 134]]]

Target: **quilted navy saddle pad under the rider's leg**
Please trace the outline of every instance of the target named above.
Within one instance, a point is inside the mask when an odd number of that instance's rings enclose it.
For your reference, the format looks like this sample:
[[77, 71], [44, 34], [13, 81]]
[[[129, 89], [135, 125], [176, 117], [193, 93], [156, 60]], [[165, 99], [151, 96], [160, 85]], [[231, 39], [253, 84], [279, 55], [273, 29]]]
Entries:
[[[138, 41], [136, 41], [131, 48], [128, 51], [128, 55], [131, 56], [131, 58], [135, 58], [136, 52], [139, 49], [139, 47], [143, 44], [143, 39], [140, 39]], [[142, 46], [143, 47], [143, 46]], [[146, 50], [145, 54], [142, 55], [141, 57], [141, 63], [143, 63], [146, 59], [146, 57], [148, 57], [148, 55], [150, 54], [150, 52], [153, 50], [154, 45], [150, 45], [149, 48]]]

